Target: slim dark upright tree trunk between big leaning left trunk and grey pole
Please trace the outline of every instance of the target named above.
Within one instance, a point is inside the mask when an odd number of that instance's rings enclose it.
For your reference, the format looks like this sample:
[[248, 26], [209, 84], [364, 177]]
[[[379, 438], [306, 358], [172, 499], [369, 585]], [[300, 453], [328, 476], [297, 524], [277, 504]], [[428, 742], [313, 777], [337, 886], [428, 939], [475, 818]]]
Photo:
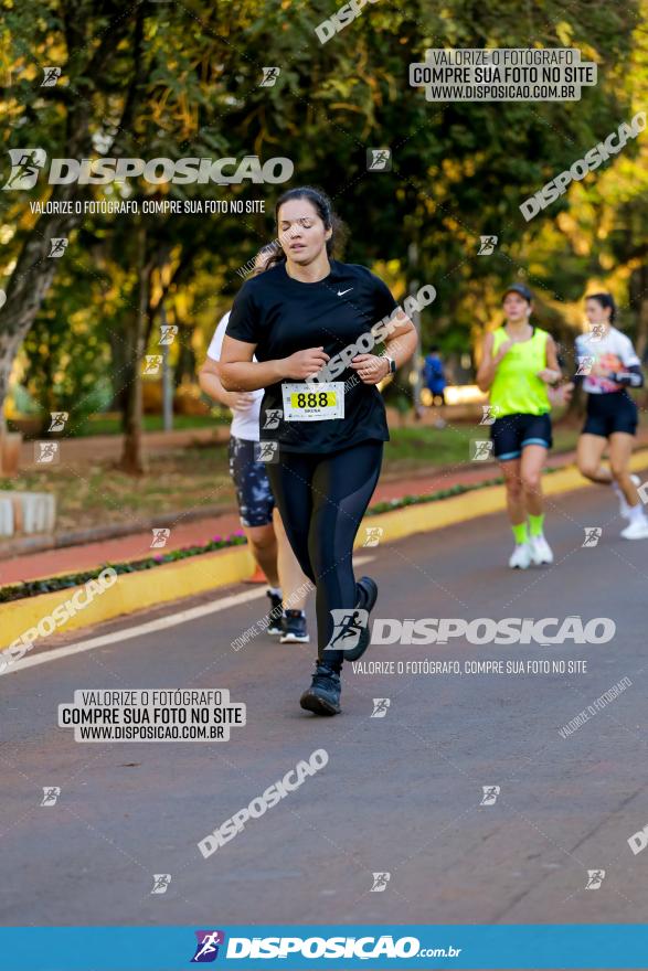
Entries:
[[128, 329], [128, 355], [130, 361], [128, 402], [124, 422], [124, 450], [119, 468], [129, 476], [142, 476], [145, 471], [141, 452], [142, 388], [141, 362], [146, 350], [146, 318], [149, 302], [149, 270], [146, 265], [147, 233], [144, 225], [138, 230], [137, 277], [138, 309]]

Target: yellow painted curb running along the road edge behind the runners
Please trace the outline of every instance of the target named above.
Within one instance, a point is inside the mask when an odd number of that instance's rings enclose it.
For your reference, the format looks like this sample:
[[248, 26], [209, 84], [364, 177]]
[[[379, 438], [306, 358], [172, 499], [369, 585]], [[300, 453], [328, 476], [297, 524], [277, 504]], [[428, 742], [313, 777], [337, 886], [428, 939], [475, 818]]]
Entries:
[[[648, 450], [636, 452], [633, 470], [648, 467]], [[588, 487], [574, 466], [546, 476], [542, 486], [546, 495], [557, 495]], [[381, 542], [394, 542], [415, 533], [440, 530], [455, 523], [500, 512], [506, 508], [503, 486], [487, 486], [474, 492], [453, 495], [436, 502], [419, 503], [392, 512], [367, 516], [355, 537], [354, 548], [364, 546], [367, 529], [382, 529]], [[247, 579], [255, 563], [247, 546], [204, 553], [189, 559], [153, 567], [153, 570], [120, 574], [109, 589], [95, 597], [85, 608], [56, 628], [56, 632], [75, 630], [134, 613], [145, 607], [180, 600], [208, 590]], [[78, 587], [42, 594], [24, 600], [0, 605], [1, 647], [8, 647], [36, 625], [55, 607], [73, 597]], [[38, 638], [40, 641], [42, 638]]]

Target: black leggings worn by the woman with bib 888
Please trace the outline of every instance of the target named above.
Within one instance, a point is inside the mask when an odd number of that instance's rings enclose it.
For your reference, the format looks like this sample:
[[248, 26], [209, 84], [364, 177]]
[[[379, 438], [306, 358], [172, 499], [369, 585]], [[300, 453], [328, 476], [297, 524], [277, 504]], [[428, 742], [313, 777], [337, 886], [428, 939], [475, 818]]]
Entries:
[[[353, 541], [380, 476], [382, 441], [363, 441], [342, 451], [283, 452], [267, 465], [275, 501], [293, 552], [316, 585], [318, 654], [331, 639], [331, 610], [358, 604]], [[327, 651], [340, 668], [342, 651]]]

